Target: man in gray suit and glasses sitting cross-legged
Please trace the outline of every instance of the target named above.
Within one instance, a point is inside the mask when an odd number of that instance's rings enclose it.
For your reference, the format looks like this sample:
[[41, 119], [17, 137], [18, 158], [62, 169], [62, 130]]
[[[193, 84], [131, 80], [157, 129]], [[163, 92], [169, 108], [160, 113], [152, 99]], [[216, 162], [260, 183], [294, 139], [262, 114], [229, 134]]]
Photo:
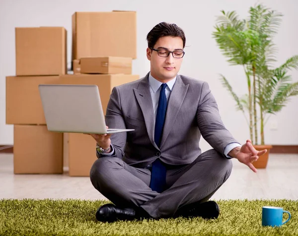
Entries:
[[[98, 221], [203, 217], [220, 213], [210, 197], [230, 176], [230, 158], [252, 171], [267, 150], [242, 146], [224, 127], [208, 83], [178, 75], [185, 35], [175, 24], [159, 23], [147, 35], [150, 72], [113, 88], [106, 112], [110, 128], [91, 134], [98, 159], [93, 186], [114, 204], [96, 212]], [[201, 153], [201, 135], [213, 149]]]

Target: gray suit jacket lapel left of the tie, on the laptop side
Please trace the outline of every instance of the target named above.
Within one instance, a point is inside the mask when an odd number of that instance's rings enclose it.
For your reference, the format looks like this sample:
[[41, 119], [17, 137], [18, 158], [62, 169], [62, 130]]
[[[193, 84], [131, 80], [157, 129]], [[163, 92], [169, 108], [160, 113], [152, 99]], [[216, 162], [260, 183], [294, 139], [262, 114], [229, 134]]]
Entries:
[[158, 148], [154, 142], [154, 111], [152, 105], [152, 98], [150, 94], [150, 87], [148, 82], [149, 73], [141, 80], [138, 89], [134, 89], [136, 99], [141, 107], [144, 120], [146, 123], [147, 132], [152, 145]]

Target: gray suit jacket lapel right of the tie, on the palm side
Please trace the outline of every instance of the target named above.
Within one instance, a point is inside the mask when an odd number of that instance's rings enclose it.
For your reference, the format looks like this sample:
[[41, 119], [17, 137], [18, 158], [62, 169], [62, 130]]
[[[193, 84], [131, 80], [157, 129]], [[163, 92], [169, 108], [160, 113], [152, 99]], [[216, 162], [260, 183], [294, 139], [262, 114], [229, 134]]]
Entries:
[[161, 142], [160, 142], [160, 148], [164, 144], [167, 136], [169, 135], [171, 128], [173, 127], [174, 121], [178, 115], [178, 112], [186, 96], [188, 86], [189, 84], [185, 85], [181, 80], [180, 76], [177, 75], [177, 79], [171, 91], [168, 105], [167, 105], [165, 121], [163, 125], [163, 133], [162, 133]]

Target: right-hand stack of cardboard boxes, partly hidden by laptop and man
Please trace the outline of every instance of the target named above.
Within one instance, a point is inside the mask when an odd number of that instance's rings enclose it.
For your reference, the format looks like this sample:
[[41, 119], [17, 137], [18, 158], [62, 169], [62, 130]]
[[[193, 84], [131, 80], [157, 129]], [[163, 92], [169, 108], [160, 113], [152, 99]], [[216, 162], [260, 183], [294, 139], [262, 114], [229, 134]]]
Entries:
[[[73, 15], [73, 71], [63, 84], [96, 84], [104, 114], [113, 87], [139, 79], [132, 75], [137, 58], [136, 12], [75, 12]], [[96, 141], [79, 133], [64, 134], [64, 158], [70, 176], [89, 176], [96, 157]]]

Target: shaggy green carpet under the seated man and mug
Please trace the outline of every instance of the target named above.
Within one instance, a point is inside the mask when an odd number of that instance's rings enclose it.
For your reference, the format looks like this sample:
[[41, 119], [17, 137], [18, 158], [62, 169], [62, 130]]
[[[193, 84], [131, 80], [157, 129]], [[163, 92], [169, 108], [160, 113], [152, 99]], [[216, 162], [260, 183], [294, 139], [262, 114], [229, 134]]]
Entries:
[[[298, 201], [221, 200], [217, 220], [177, 218], [101, 223], [96, 209], [106, 201], [0, 200], [0, 235], [298, 235]], [[280, 206], [292, 213], [281, 228], [262, 227], [262, 206]], [[286, 214], [284, 214], [286, 217]]]

